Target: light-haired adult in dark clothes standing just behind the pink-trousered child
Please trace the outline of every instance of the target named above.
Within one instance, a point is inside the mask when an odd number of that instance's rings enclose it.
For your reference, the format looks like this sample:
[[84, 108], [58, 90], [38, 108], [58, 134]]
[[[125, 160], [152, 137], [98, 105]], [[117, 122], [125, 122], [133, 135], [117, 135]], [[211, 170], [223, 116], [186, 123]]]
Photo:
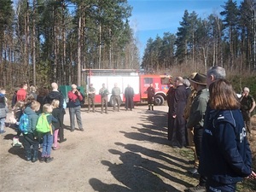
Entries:
[[52, 91], [50, 91], [48, 96], [46, 96], [44, 103], [51, 104], [51, 102], [54, 99], [56, 99], [60, 102], [59, 108], [61, 110], [61, 117], [60, 117], [61, 118], [61, 126], [60, 126], [60, 129], [59, 129], [59, 137], [60, 137], [60, 142], [59, 143], [62, 143], [62, 142], [67, 141], [67, 139], [64, 138], [64, 124], [63, 124], [64, 114], [66, 113], [65, 109], [63, 108], [64, 96], [62, 95], [61, 92], [59, 92], [58, 84], [52, 83], [51, 88], [52, 88]]

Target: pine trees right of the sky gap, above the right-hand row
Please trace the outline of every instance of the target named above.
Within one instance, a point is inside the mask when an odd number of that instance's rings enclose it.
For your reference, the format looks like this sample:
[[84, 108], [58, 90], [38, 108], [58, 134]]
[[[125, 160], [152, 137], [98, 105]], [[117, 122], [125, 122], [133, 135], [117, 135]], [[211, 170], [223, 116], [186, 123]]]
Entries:
[[148, 73], [168, 72], [180, 66], [206, 73], [215, 65], [228, 71], [256, 71], [256, 1], [241, 5], [228, 0], [224, 11], [201, 19], [184, 11], [177, 33], [149, 38], [142, 67]]

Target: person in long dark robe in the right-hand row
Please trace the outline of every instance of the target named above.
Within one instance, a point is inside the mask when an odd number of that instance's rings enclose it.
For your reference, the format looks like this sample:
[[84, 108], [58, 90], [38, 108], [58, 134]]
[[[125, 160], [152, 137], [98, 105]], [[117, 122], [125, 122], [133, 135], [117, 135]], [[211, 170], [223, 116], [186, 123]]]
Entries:
[[183, 148], [186, 146], [186, 121], [183, 117], [184, 109], [188, 99], [187, 90], [183, 85], [183, 78], [177, 77], [174, 81], [176, 89], [173, 97], [173, 108], [171, 111], [173, 125], [172, 129], [176, 130], [176, 139], [172, 142], [172, 147]]

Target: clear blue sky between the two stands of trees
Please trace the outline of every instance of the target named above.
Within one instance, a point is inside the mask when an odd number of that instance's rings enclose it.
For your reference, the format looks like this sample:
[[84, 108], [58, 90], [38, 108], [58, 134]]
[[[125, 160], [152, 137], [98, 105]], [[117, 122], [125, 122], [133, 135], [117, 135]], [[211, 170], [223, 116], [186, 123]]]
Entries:
[[[182, 21], [184, 11], [189, 14], [195, 11], [198, 17], [207, 18], [208, 15], [218, 14], [221, 7], [228, 0], [128, 0], [132, 12], [131, 28], [138, 41], [141, 59], [149, 38], [163, 37], [164, 32], [176, 34], [179, 22]], [[235, 1], [234, 1], [235, 2]], [[236, 1], [239, 6], [241, 0]]]

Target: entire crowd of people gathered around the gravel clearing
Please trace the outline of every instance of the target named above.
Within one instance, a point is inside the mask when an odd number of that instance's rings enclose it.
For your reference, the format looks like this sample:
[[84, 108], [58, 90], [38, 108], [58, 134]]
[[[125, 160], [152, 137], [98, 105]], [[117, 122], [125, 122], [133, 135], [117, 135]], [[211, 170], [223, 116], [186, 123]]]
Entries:
[[[211, 67], [207, 74], [191, 73], [188, 79], [177, 77], [170, 82], [166, 101], [168, 104], [168, 134], [172, 148], [189, 147], [195, 160], [192, 174], [199, 174], [199, 184], [189, 188], [190, 192], [236, 191], [236, 183], [243, 178], [256, 178], [252, 170], [252, 154], [247, 141], [251, 137], [251, 113], [255, 108], [250, 90], [244, 87], [239, 98], [228, 80], [223, 67]], [[28, 84], [21, 84], [15, 90], [11, 107], [14, 113], [16, 135], [14, 146], [21, 146], [19, 137], [24, 136], [23, 146], [26, 160], [36, 162], [38, 150], [42, 148], [40, 162], [54, 160], [51, 150], [59, 149], [59, 143], [67, 141], [64, 137], [63, 119], [68, 107], [70, 131], [75, 131], [75, 119], [79, 131], [84, 131], [81, 119], [83, 95], [76, 84], [68, 91], [68, 103], [58, 90], [58, 84], [52, 83], [51, 90]], [[37, 94], [38, 93], [38, 94]], [[95, 111], [96, 89], [90, 84], [88, 93], [88, 113], [90, 105]], [[119, 111], [121, 99], [118, 84], [111, 91], [113, 112]], [[148, 110], [154, 110], [153, 84], [148, 94]], [[8, 113], [6, 90], [0, 90], [0, 134]], [[102, 98], [101, 113], [105, 107], [108, 113], [108, 94], [106, 84], [99, 90]], [[134, 107], [134, 91], [130, 84], [125, 88], [125, 109]], [[26, 114], [29, 128], [20, 131], [20, 119]], [[49, 131], [40, 135], [37, 132], [38, 119], [46, 119]]]

